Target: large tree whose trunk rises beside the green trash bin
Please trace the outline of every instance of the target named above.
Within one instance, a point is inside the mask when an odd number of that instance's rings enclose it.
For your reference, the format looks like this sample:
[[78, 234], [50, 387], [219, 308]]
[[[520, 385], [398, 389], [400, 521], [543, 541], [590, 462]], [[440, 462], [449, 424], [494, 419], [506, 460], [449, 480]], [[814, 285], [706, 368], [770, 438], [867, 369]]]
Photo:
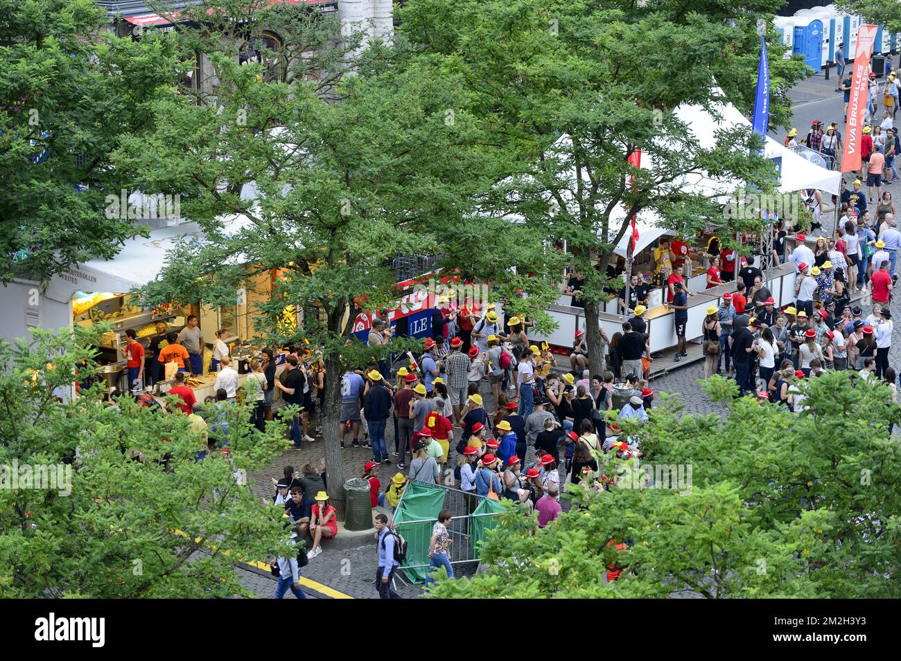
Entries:
[[[341, 374], [371, 358], [347, 342], [350, 325], [359, 301], [377, 309], [396, 299], [396, 255], [442, 255], [446, 272], [489, 280], [517, 310], [539, 311], [553, 297], [554, 261], [544, 256], [546, 234], [483, 204], [509, 167], [454, 76], [397, 67], [405, 56], [378, 40], [356, 55], [358, 34], [295, 5], [243, 16], [240, 30], [240, 13], [212, 16], [204, 31], [179, 35], [214, 65], [205, 103], [161, 101], [159, 130], [117, 159], [139, 187], [183, 185], [181, 209], [205, 234], [169, 256], [144, 299], [233, 305], [236, 290], [278, 271], [256, 327], [272, 344], [303, 338], [323, 352], [325, 460], [342, 514]], [[284, 35], [282, 55], [266, 50], [283, 75], [238, 62], [248, 32], [263, 26]], [[226, 222], [234, 217], [240, 229]], [[284, 323], [288, 307], [302, 313], [300, 326]]]

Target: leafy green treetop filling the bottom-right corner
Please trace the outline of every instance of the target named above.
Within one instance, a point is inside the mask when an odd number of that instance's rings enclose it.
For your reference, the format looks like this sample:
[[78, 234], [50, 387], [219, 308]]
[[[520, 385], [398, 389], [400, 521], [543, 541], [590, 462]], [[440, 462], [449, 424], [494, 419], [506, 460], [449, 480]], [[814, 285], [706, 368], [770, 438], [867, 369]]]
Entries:
[[[434, 594], [897, 598], [901, 449], [888, 424], [901, 414], [885, 384], [852, 378], [802, 383], [800, 414], [733, 399], [720, 377], [705, 389], [728, 415], [688, 415], [666, 397], [629, 430], [642, 460], [598, 456], [613, 487], [574, 488], [569, 512], [540, 531], [513, 507], [488, 533], [487, 574]], [[605, 585], [614, 563], [623, 574]]]

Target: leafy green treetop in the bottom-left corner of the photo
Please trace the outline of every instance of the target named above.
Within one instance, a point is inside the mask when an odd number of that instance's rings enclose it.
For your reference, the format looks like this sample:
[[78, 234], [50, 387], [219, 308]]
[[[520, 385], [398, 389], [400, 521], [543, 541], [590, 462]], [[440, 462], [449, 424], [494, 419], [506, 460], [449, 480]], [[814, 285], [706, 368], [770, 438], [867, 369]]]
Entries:
[[[283, 450], [279, 430], [259, 433], [248, 406], [207, 407], [210, 423], [227, 420], [231, 453], [196, 461], [205, 441], [180, 412], [128, 395], [105, 406], [100, 386], [59, 401], [95, 374], [98, 340], [36, 330], [30, 344], [0, 343], [0, 593], [250, 595], [235, 565], [283, 548], [287, 531], [281, 508], [261, 503], [242, 476]], [[65, 461], [68, 474], [57, 470]], [[34, 475], [59, 480], [27, 477], [49, 467]]]

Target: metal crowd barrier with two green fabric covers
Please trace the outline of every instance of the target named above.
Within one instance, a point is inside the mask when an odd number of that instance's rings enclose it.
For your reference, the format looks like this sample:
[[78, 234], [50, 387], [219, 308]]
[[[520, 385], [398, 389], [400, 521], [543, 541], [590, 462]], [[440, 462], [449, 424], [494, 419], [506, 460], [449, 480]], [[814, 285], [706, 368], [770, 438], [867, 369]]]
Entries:
[[[404, 492], [401, 494], [400, 500], [397, 502], [396, 511], [400, 510], [404, 503], [407, 488], [412, 483], [407, 483]], [[428, 487], [439, 488], [444, 491], [444, 506], [442, 510], [451, 512], [451, 525], [448, 526], [448, 534], [451, 536], [451, 548], [448, 549], [448, 555], [451, 560], [451, 566], [465, 565], [469, 563], [478, 563], [481, 558], [478, 557], [479, 531], [486, 530], [484, 525], [474, 525], [477, 520], [483, 520], [483, 517], [491, 519], [500, 513], [474, 514], [477, 506], [485, 500], [484, 497], [476, 496], [475, 493], [467, 493], [454, 487], [445, 487], [443, 485], [428, 485]], [[429, 567], [428, 548], [432, 539], [432, 524], [437, 518], [416, 519], [412, 521], [404, 521], [395, 523], [395, 531], [404, 537], [407, 542], [407, 560], [410, 564], [403, 564], [399, 567], [396, 576], [400, 576], [400, 572], [406, 569], [427, 569]], [[473, 540], [473, 536], [477, 538]], [[416, 549], [425, 549], [424, 561], [420, 558], [412, 557]], [[407, 580], [409, 576], [407, 576]]]

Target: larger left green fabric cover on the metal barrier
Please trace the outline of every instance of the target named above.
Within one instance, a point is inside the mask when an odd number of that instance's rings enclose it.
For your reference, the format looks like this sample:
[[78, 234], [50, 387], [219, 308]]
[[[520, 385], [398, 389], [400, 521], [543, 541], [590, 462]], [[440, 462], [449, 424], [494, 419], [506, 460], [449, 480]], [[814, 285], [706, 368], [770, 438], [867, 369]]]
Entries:
[[[404, 574], [414, 583], [424, 583], [429, 564], [429, 540], [432, 539], [432, 526], [438, 519], [438, 513], [444, 507], [446, 492], [423, 482], [411, 482], [406, 486], [404, 497], [394, 514], [394, 528], [406, 540], [406, 559], [401, 567], [407, 565], [425, 565], [415, 569], [404, 569]], [[489, 517], [484, 517], [489, 518]], [[425, 523], [405, 523], [421, 521]]]

